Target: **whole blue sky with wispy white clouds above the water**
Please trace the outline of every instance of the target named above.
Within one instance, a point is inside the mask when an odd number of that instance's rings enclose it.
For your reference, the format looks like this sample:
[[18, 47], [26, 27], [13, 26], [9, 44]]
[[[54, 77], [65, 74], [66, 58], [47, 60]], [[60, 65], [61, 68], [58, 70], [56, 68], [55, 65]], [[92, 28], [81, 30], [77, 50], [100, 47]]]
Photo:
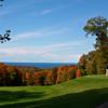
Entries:
[[12, 40], [0, 43], [0, 62], [77, 63], [94, 50], [83, 27], [95, 16], [108, 18], [108, 0], [4, 0], [0, 33], [11, 29]]

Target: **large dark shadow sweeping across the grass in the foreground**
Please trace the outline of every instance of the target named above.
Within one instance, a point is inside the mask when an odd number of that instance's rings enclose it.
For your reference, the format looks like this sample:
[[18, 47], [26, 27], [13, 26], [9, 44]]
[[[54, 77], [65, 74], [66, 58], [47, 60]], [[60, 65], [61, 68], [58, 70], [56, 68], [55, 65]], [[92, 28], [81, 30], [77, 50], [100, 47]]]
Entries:
[[[65, 90], [64, 90], [65, 91]], [[1, 94], [1, 93], [0, 93]], [[17, 93], [18, 94], [18, 93]], [[43, 94], [43, 93], [42, 93]], [[30, 94], [26, 98], [32, 96], [41, 97], [41, 93]], [[6, 95], [5, 95], [6, 98]], [[0, 97], [0, 100], [2, 98]], [[15, 97], [18, 100], [17, 97]], [[46, 100], [33, 100], [25, 103], [14, 103], [1, 105], [0, 108], [95, 108], [97, 105], [108, 100], [108, 87], [90, 90], [80, 93], [71, 93], [63, 96], [53, 97]]]

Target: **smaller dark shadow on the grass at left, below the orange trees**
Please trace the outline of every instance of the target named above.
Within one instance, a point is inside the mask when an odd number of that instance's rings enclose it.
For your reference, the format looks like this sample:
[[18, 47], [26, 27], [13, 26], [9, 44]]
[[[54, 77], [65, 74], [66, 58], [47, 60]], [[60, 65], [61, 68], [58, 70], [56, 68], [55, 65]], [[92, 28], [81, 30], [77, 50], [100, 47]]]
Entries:
[[17, 91], [17, 92], [9, 92], [9, 91], [0, 91], [0, 104], [1, 103], [10, 103], [10, 102], [18, 102], [25, 99], [33, 99], [40, 98], [43, 96], [43, 92], [26, 92], [26, 91]]

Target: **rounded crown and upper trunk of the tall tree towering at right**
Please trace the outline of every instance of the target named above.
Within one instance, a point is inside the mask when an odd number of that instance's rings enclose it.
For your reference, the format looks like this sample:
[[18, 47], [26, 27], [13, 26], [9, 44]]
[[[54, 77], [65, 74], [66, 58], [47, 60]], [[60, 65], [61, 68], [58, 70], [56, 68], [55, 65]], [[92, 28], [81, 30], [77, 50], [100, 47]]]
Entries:
[[105, 17], [97, 16], [90, 18], [83, 29], [87, 36], [96, 37], [96, 49], [108, 45], [108, 21]]

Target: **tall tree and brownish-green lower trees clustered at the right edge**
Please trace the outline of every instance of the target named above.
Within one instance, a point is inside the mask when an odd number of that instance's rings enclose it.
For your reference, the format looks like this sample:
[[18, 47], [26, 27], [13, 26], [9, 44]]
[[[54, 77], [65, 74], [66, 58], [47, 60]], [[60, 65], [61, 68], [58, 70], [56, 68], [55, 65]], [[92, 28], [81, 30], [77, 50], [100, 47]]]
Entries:
[[108, 64], [108, 21], [97, 16], [90, 18], [83, 30], [86, 36], [95, 36], [95, 51], [91, 51], [79, 60], [80, 68], [86, 73], [105, 73], [105, 66]]

